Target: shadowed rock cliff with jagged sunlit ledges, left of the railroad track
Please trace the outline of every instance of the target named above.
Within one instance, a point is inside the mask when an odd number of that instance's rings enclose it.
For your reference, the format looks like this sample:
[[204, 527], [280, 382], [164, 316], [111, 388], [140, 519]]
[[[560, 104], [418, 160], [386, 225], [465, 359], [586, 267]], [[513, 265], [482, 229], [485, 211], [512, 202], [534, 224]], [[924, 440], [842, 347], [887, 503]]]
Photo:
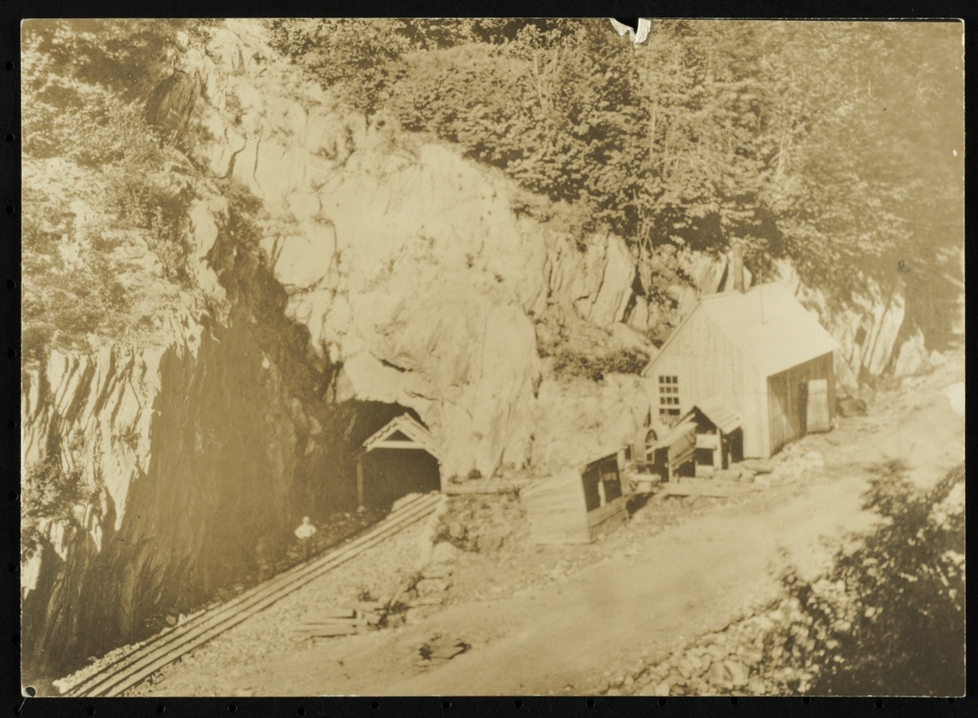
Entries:
[[154, 340], [55, 351], [22, 376], [24, 470], [53, 465], [83, 494], [24, 547], [25, 674], [137, 638], [239, 580], [258, 537], [288, 532], [294, 484], [335, 448], [317, 440], [325, 410], [309, 402], [329, 364], [304, 353], [285, 292], [212, 206], [197, 225], [210, 293], [183, 297]]

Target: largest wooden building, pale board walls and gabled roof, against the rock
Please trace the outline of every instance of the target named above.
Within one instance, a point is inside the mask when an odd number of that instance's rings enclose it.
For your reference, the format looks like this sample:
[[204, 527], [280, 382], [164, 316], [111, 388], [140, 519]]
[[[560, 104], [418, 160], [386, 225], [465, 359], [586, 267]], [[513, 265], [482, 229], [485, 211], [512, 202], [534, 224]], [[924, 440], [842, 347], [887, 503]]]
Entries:
[[743, 456], [769, 458], [830, 425], [835, 349], [785, 287], [758, 285], [701, 297], [643, 376], [661, 423], [724, 405], [739, 420]]

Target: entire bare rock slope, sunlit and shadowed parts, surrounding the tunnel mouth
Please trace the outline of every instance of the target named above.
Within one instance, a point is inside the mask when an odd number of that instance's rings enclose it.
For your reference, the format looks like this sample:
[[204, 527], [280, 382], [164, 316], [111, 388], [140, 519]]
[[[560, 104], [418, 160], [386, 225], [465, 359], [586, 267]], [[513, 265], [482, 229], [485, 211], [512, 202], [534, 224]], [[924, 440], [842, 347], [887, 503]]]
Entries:
[[[348, 506], [340, 434], [368, 402], [416, 411], [444, 477], [551, 471], [631, 439], [645, 416], [634, 376], [568, 381], [540, 355], [654, 351], [643, 333], [663, 317], [634, 295], [620, 238], [580, 247], [501, 174], [343, 110], [257, 22], [181, 38], [172, 69], [199, 90], [186, 117], [212, 175], [188, 216], [194, 290], [153, 341], [52, 354], [23, 376], [23, 467], [57, 457], [91, 495], [42, 522], [46, 548], [22, 571], [38, 671], [199, 601], [309, 502]], [[229, 230], [229, 181], [263, 204], [255, 247]], [[723, 260], [694, 265], [680, 312], [724, 279]], [[896, 296], [825, 314], [843, 381], [890, 365], [902, 318]]]

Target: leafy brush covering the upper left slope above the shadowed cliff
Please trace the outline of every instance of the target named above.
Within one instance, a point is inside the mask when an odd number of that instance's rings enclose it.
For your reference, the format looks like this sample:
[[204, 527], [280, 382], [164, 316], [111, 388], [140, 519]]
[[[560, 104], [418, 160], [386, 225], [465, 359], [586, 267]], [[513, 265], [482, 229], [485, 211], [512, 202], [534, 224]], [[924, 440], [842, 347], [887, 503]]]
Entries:
[[[184, 234], [195, 169], [146, 123], [183, 22], [35, 21], [23, 25], [22, 346], [86, 346], [130, 327], [121, 249], [139, 236], [167, 278], [186, 281]], [[72, 179], [73, 178], [73, 179]], [[78, 216], [77, 202], [91, 211]]]

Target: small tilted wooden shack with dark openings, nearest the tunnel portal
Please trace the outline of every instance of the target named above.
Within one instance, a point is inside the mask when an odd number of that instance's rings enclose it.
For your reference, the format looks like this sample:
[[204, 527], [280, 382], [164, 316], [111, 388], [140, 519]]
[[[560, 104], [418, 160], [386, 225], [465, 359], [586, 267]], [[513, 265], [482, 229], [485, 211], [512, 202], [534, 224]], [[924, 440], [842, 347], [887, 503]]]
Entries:
[[621, 453], [542, 479], [520, 491], [537, 544], [587, 544], [628, 520]]

